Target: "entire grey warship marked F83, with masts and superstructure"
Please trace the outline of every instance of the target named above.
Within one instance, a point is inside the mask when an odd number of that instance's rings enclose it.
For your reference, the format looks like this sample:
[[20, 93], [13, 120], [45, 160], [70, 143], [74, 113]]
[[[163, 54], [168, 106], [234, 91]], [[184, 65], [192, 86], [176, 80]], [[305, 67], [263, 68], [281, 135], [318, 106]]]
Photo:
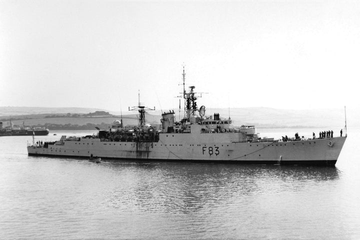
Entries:
[[[185, 90], [182, 70], [184, 115], [175, 120], [172, 110], [162, 112], [160, 127], [146, 124], [145, 112], [155, 108], [138, 105], [139, 124], [124, 127], [122, 119], [93, 135], [61, 136], [59, 140], [27, 145], [28, 155], [125, 159], [141, 161], [235, 162], [261, 164], [335, 165], [345, 136], [327, 138], [261, 138], [255, 126], [233, 127], [231, 118], [205, 114], [197, 106], [194, 86]], [[159, 129], [157, 129], [159, 128]]]

